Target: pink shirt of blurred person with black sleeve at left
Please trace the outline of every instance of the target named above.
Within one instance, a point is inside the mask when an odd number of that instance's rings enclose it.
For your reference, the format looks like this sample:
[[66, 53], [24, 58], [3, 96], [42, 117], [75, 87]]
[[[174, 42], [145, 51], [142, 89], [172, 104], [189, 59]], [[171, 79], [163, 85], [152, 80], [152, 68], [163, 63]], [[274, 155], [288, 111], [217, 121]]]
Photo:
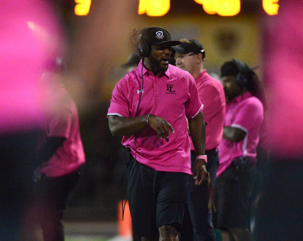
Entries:
[[64, 137], [66, 140], [51, 159], [38, 168], [38, 172], [48, 177], [64, 176], [85, 163], [75, 102], [63, 86], [57, 89], [55, 96], [57, 109], [45, 123], [44, 131], [40, 136], [40, 145], [43, 146], [48, 137]]

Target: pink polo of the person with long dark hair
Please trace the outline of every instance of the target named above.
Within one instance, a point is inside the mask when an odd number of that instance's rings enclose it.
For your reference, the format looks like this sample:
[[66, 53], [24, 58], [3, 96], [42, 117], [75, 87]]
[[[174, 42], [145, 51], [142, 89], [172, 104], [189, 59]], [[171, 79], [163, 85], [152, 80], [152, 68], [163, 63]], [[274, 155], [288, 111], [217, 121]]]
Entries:
[[263, 105], [250, 92], [237, 96], [226, 105], [224, 126], [240, 128], [246, 132], [246, 136], [240, 142], [222, 139], [218, 146], [220, 165], [217, 176], [224, 172], [237, 157], [248, 156], [251, 163], [257, 161], [256, 148], [263, 118]]

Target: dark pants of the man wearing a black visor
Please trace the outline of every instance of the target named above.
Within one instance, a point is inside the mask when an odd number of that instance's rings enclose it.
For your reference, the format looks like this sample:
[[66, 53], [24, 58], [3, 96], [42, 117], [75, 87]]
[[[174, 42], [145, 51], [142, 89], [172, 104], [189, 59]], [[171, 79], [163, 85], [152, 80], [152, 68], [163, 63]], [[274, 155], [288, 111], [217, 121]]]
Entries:
[[[206, 151], [206, 170], [210, 174], [211, 185], [215, 185], [218, 171], [219, 156], [217, 148]], [[191, 171], [195, 174], [196, 155], [191, 152]], [[194, 179], [189, 183], [187, 205], [185, 205], [184, 218], [179, 233], [181, 241], [215, 241], [215, 232], [212, 225], [210, 210], [208, 210], [208, 180], [200, 186], [194, 185]]]

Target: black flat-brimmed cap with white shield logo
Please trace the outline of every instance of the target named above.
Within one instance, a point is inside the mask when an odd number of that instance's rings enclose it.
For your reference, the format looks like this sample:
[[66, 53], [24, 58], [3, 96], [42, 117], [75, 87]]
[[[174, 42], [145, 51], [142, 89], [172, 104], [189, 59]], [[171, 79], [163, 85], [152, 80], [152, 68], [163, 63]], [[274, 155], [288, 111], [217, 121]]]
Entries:
[[152, 28], [147, 33], [146, 41], [149, 45], [158, 45], [162, 43], [170, 43], [171, 46], [180, 45], [182, 42], [177, 40], [171, 40], [170, 34], [160, 27]]

